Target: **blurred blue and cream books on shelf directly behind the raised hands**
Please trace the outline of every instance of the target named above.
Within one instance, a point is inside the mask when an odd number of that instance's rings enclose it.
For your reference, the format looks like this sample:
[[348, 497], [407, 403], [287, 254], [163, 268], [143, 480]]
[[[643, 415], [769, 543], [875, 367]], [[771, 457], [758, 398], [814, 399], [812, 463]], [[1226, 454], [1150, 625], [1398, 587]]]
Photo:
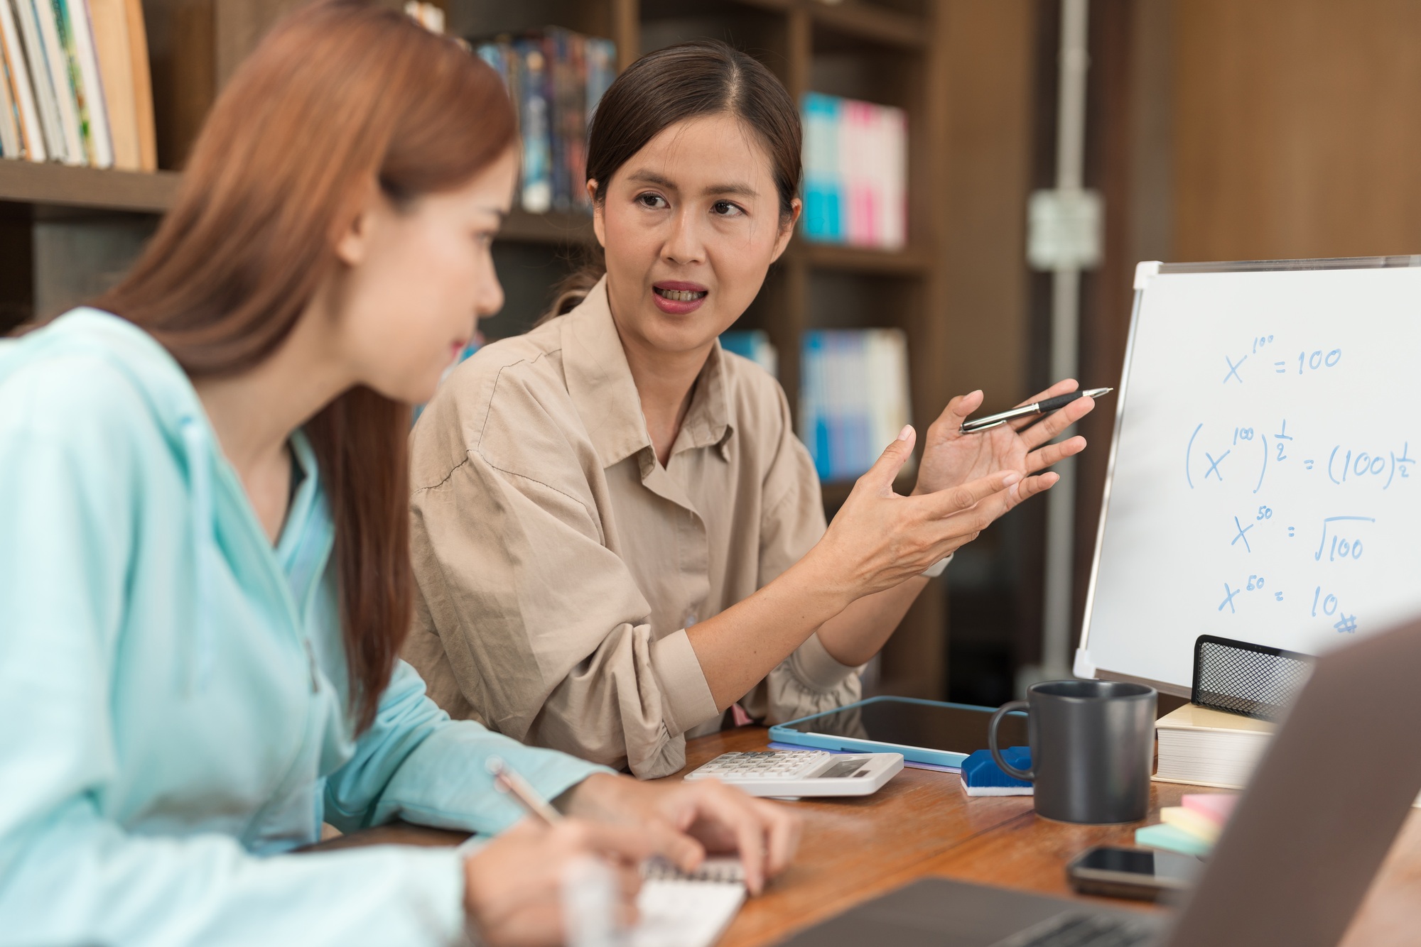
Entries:
[[901, 329], [814, 329], [800, 356], [800, 437], [820, 480], [851, 480], [912, 420]]

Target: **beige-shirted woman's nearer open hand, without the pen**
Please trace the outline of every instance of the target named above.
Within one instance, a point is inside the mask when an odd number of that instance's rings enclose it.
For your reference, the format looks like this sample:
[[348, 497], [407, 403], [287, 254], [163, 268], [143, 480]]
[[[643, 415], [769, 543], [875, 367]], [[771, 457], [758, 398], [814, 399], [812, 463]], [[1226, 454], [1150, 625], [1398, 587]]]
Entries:
[[1020, 503], [1022, 474], [1015, 469], [935, 493], [898, 496], [894, 477], [912, 456], [912, 427], [904, 427], [854, 484], [824, 538], [794, 566], [810, 569], [811, 588], [837, 599], [840, 609], [921, 574]]

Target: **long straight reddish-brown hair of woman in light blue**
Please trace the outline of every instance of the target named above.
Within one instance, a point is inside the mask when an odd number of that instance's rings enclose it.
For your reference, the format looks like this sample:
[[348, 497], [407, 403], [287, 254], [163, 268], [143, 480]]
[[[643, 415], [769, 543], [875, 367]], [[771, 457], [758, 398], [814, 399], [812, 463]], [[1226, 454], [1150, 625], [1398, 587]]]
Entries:
[[[173, 209], [95, 305], [151, 332], [189, 376], [240, 373], [342, 266], [335, 240], [371, 180], [402, 206], [468, 183], [514, 141], [499, 77], [458, 43], [368, 1], [317, 3], [232, 77]], [[409, 406], [355, 388], [306, 430], [335, 522], [351, 707], [365, 730], [411, 620]]]

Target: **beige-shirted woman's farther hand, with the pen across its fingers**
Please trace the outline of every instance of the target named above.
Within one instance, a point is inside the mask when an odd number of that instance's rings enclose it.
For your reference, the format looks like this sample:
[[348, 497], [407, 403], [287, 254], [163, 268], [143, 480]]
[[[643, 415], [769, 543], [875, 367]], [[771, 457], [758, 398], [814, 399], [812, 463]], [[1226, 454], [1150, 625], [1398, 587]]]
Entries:
[[[1067, 378], [1022, 403], [1030, 405], [1066, 395], [1076, 388], [1076, 381]], [[1016, 470], [1026, 477], [1012, 498], [1012, 505], [1047, 490], [1060, 480], [1057, 474], [1046, 473], [1036, 477], [1030, 474], [1050, 467], [1063, 457], [1079, 454], [1086, 449], [1086, 439], [1069, 437], [1059, 444], [1047, 442], [1088, 415], [1096, 402], [1091, 398], [1079, 398], [1046, 417], [1022, 417], [976, 434], [961, 433], [962, 422], [980, 406], [980, 390], [958, 395], [948, 402], [938, 420], [932, 422], [922, 447], [922, 464], [918, 469], [918, 486], [914, 494], [956, 487], [998, 470]]]

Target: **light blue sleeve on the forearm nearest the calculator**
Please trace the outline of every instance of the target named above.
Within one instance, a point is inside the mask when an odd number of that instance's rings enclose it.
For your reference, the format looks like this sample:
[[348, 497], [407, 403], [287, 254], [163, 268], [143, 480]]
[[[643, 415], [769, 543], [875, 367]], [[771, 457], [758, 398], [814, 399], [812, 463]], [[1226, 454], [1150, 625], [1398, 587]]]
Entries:
[[449, 714], [425, 696], [419, 673], [398, 662], [379, 701], [374, 726], [361, 734], [355, 755], [325, 782], [325, 821], [354, 831], [401, 818], [469, 832], [502, 832], [523, 815], [493, 788], [489, 757], [554, 799], [607, 767], [556, 750], [526, 747]]

